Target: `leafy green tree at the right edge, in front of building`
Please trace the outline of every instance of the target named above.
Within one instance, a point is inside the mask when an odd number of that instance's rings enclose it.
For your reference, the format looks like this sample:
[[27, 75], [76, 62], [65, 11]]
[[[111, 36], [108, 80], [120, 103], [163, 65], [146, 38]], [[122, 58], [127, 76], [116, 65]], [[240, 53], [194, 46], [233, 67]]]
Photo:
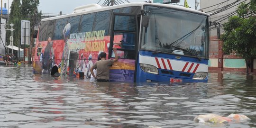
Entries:
[[245, 59], [249, 74], [248, 69], [252, 68], [252, 61], [256, 56], [256, 0], [247, 4], [241, 3], [237, 14], [230, 17], [228, 23], [223, 26], [223, 51], [225, 54], [236, 53]]

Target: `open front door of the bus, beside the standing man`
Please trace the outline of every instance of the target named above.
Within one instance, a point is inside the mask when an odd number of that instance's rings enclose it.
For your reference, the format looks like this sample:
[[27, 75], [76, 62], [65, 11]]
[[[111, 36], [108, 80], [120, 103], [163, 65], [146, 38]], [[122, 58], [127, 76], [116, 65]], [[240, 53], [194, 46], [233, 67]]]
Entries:
[[137, 15], [113, 13], [112, 19], [109, 58], [115, 57], [112, 47], [116, 47], [119, 59], [110, 67], [110, 81], [134, 82], [138, 44]]

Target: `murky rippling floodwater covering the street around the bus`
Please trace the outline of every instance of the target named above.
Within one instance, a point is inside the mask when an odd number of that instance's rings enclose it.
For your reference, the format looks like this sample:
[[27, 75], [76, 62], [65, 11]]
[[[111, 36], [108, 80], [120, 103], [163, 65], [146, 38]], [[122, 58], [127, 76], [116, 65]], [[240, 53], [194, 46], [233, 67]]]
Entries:
[[[0, 66], [0, 128], [256, 128], [256, 76], [210, 73], [208, 83], [90, 83]], [[227, 126], [200, 114], [244, 114]]]

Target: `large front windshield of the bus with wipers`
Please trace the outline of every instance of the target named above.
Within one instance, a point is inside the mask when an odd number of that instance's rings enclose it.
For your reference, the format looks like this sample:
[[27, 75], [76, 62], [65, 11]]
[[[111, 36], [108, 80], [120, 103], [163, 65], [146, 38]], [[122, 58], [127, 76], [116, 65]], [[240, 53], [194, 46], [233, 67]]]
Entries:
[[141, 49], [208, 57], [207, 16], [153, 6], [144, 11]]

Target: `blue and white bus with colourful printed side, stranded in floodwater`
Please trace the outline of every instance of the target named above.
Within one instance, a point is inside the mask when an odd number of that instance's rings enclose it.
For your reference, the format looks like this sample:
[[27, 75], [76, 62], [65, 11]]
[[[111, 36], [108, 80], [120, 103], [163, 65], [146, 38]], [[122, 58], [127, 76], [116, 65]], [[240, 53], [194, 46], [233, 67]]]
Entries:
[[110, 82], [207, 82], [208, 15], [177, 5], [90, 4], [72, 14], [44, 18], [37, 35], [34, 73], [90, 79], [91, 66], [105, 52], [118, 61]]

